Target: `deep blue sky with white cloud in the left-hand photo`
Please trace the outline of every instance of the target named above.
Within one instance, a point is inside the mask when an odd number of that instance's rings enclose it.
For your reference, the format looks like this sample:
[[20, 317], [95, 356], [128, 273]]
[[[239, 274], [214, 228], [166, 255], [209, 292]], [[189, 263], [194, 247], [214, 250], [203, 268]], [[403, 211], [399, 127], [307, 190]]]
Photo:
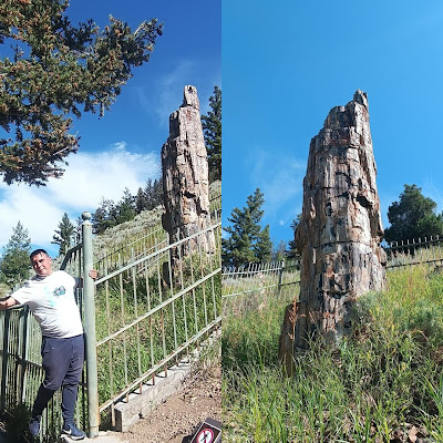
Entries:
[[[163, 35], [104, 117], [83, 114], [74, 122], [80, 150], [68, 158], [63, 179], [40, 188], [0, 183], [0, 254], [20, 220], [34, 247], [56, 255], [50, 241], [64, 212], [74, 220], [83, 210], [94, 212], [102, 197], [116, 202], [125, 187], [135, 194], [147, 178], [159, 177], [168, 117], [182, 104], [184, 86], [197, 87], [203, 114], [214, 86], [222, 87], [220, 12], [220, 0], [71, 0], [73, 23], [92, 18], [103, 28], [112, 14], [135, 30], [143, 20], [157, 18], [164, 22]], [[0, 51], [4, 55], [8, 50]]]

